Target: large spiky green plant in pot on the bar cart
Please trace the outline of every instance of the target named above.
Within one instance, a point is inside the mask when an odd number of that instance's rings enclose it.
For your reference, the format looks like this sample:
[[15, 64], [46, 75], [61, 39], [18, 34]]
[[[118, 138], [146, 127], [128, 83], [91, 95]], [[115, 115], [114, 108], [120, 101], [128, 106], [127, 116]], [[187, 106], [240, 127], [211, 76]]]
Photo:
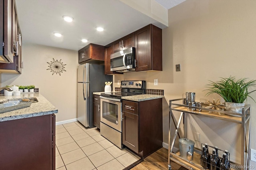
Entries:
[[245, 105], [244, 101], [248, 97], [255, 102], [250, 94], [256, 90], [251, 92], [248, 92], [248, 90], [251, 86], [256, 86], [256, 80], [247, 81], [247, 79], [240, 78], [235, 80], [235, 77], [230, 76], [228, 78], [220, 78], [217, 82], [209, 80], [210, 83], [206, 85], [209, 92], [206, 95], [217, 93], [225, 100], [226, 111], [242, 113], [242, 108]]

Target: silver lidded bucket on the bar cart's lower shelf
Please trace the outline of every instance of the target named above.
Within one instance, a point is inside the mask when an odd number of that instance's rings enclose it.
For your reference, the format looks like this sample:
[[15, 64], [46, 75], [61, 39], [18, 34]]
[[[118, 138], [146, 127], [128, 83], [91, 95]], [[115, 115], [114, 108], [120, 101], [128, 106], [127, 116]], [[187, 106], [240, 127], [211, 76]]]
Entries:
[[194, 141], [186, 138], [179, 139], [180, 156], [185, 160], [188, 160], [188, 152], [190, 161], [193, 160], [194, 155]]

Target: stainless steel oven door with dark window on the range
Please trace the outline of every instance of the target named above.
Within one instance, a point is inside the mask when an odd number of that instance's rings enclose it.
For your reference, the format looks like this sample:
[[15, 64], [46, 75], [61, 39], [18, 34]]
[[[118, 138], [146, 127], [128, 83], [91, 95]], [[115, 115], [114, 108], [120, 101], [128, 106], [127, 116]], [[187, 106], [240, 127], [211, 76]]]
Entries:
[[100, 108], [100, 121], [122, 132], [121, 100], [100, 96]]

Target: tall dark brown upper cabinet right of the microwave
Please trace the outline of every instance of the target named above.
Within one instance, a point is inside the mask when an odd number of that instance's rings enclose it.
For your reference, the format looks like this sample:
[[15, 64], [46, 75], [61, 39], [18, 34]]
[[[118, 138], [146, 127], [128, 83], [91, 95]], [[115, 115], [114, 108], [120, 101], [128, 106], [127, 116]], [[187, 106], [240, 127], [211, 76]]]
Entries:
[[150, 24], [135, 31], [136, 71], [162, 71], [162, 29]]

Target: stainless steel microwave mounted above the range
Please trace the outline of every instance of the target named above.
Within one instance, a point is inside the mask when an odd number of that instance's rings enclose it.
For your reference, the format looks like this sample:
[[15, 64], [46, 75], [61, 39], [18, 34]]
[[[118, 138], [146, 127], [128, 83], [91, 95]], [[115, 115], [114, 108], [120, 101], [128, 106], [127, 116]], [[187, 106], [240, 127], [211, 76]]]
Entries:
[[135, 48], [130, 47], [110, 55], [110, 71], [135, 71]]

